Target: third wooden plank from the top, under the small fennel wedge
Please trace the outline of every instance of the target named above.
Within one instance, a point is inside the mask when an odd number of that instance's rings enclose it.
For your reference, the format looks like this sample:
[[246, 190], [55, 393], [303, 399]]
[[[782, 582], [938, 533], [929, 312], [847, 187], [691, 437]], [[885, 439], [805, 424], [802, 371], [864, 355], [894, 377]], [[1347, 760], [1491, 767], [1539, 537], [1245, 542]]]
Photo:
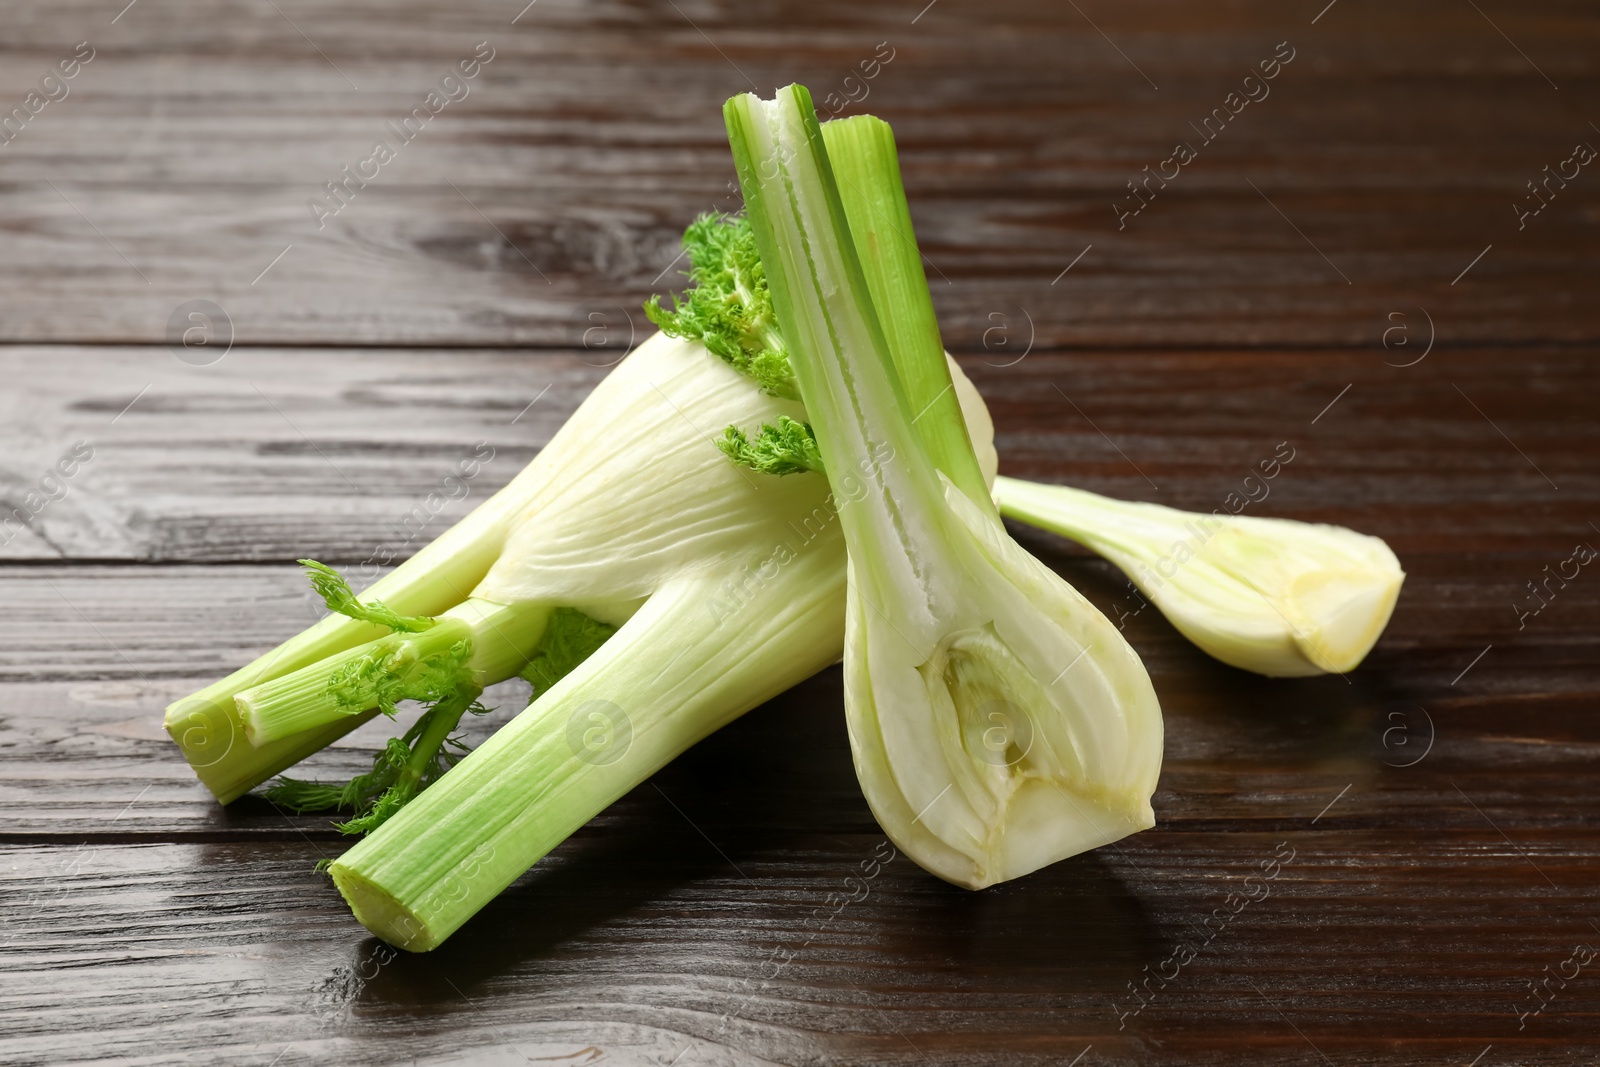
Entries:
[[[1107, 614], [1131, 608], [1123, 581], [1104, 561], [1061, 555], [1042, 534], [1022, 537]], [[1408, 565], [1410, 587], [1440, 589], [1450, 561], [1426, 555]], [[1507, 579], [1522, 566], [1506, 558]], [[322, 817], [288, 819], [266, 805], [221, 811], [173, 758], [160, 729], [168, 702], [315, 619], [318, 608], [294, 568], [27, 566], [0, 571], [0, 592], [27, 621], [11, 625], [0, 656], [6, 709], [0, 745], [8, 753], [0, 765], [6, 808], [0, 840], [190, 840], [301, 830], [328, 837]], [[1558, 643], [1534, 641], [1534, 633], [1507, 640], [1496, 625], [1506, 593], [1494, 582], [1456, 587], [1448, 603], [1408, 597], [1382, 645], [1349, 683], [1254, 678], [1200, 654], [1154, 608], [1130, 616], [1126, 632], [1166, 713], [1163, 825], [1226, 829], [1261, 819], [1293, 825], [1294, 813], [1358, 781], [1362, 792], [1341, 801], [1330, 822], [1403, 830], [1418, 811], [1459, 803], [1448, 774], [1438, 777], [1434, 768], [1445, 774], [1480, 761], [1501, 771], [1494, 790], [1478, 797], [1496, 824], [1547, 829], [1600, 806], [1600, 787], [1579, 773], [1600, 739], [1584, 710], [1600, 657], [1594, 633], [1600, 593], [1571, 592], [1562, 603]], [[1488, 638], [1496, 640], [1493, 654], [1453, 685]], [[837, 678], [829, 675], [795, 701], [822, 707], [835, 691]], [[509, 681], [486, 702], [501, 710], [469, 720], [474, 741], [526, 702], [526, 686]], [[1542, 744], [1520, 737], [1506, 721], [1522, 713], [1541, 717], [1549, 731]], [[803, 733], [824, 717], [830, 713], [800, 715], [789, 726]], [[349, 776], [389, 734], [387, 723], [363, 726], [307, 771]], [[752, 750], [786, 749], [790, 739], [750, 744]], [[1384, 769], [1421, 758], [1429, 758], [1426, 769]], [[819, 793], [856, 803], [848, 763], [832, 771]], [[1560, 797], [1550, 797], [1552, 776], [1573, 777]], [[1363, 800], [1366, 789], [1394, 795]], [[1272, 803], [1262, 808], [1266, 800]], [[253, 817], [234, 817], [242, 813]], [[869, 829], [870, 822], [851, 827]]]

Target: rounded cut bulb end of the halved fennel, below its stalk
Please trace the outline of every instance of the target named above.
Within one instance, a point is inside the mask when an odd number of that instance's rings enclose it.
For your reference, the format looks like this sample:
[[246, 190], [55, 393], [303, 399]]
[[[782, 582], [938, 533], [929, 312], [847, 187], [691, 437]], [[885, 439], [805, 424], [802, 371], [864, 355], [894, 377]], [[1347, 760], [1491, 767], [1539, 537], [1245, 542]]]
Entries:
[[941, 483], [950, 522], [907, 544], [920, 585], [851, 555], [846, 715], [890, 837], [981, 888], [1154, 825], [1162, 720], [1110, 621]]

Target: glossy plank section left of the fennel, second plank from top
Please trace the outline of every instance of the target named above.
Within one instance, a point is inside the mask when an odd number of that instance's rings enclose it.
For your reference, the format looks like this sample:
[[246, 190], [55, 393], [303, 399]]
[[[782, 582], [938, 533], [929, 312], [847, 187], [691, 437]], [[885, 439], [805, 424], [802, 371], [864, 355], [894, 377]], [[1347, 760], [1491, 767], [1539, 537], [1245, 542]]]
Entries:
[[406, 558], [510, 482], [619, 357], [235, 349], [195, 368], [165, 349], [6, 349], [29, 382], [0, 398], [11, 509], [78, 442], [94, 454], [0, 553]]

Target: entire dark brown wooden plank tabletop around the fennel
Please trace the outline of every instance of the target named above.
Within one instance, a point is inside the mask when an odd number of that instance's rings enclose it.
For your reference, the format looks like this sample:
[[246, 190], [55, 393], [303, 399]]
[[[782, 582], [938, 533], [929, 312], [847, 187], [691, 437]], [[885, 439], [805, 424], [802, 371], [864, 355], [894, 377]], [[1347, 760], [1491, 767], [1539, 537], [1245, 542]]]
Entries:
[[[1600, 947], [1600, 577], [1514, 606], [1600, 545], [1600, 174], [1512, 211], [1600, 146], [1589, 6], [120, 6], [0, 14], [0, 112], [96, 50], [0, 144], [0, 499], [93, 448], [0, 545], [0, 1062], [1600, 1056], [1600, 963], [1518, 1017]], [[472, 94], [318, 230], [306, 198], [480, 40]], [[1272, 94], [1118, 230], [1123, 182], [1285, 40]], [[630, 309], [674, 283], [683, 224], [736, 205], [722, 99], [824, 98], [878, 42], [858, 109], [896, 125], [1002, 469], [1210, 510], [1290, 442], [1253, 512], [1389, 539], [1387, 635], [1349, 678], [1272, 681], [1131, 617], [1158, 825], [976, 894], [901, 857], [813, 936], [882, 840], [824, 672], [389, 960], [312, 872], [326, 822], [219, 809], [162, 707], [315, 616], [296, 557], [403, 542], [480, 443], [429, 533], [507, 482], [648, 330]], [[210, 366], [168, 349], [192, 299], [232, 323]]]

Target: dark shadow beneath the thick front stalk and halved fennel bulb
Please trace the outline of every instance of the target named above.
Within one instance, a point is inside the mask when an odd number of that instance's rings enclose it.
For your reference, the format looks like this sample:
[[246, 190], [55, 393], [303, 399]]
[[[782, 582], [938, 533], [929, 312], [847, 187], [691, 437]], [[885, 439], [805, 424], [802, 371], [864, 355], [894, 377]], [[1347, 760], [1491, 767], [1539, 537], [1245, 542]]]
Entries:
[[[893, 963], [904, 981], [958, 973], [957, 985], [1048, 969], [1069, 993], [1160, 958], [1139, 899], [1093, 854], [981, 893], [901, 856], [811, 937], [805, 917], [827, 910], [882, 841], [829, 670], [614, 803], [440, 949], [384, 966], [357, 1008], [450, 1009], [509, 976], [531, 995], [613, 1000], [619, 984], [696, 973], [707, 981], [690, 982], [691, 995], [722, 990], [736, 1003], [771, 974], [778, 950], [795, 952], [786, 977], [846, 990], [862, 968], [877, 990], [901, 981], [885, 977]], [[818, 977], [827, 971], [845, 977]]]

